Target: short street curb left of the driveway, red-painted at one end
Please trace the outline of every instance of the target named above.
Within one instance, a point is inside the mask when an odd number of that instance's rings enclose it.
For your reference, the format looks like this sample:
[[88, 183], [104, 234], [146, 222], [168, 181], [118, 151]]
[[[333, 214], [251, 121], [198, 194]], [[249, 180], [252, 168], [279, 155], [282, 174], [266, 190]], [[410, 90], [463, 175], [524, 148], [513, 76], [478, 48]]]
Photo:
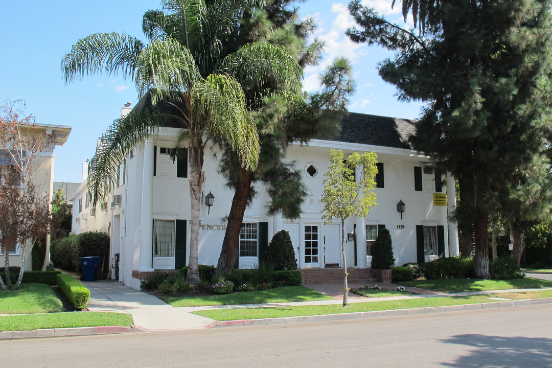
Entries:
[[127, 332], [142, 332], [136, 326], [100, 326], [100, 327], [71, 327], [71, 328], [45, 328], [30, 331], [2, 331], [0, 340], [41, 338], [41, 337], [67, 337], [88, 335], [110, 335]]

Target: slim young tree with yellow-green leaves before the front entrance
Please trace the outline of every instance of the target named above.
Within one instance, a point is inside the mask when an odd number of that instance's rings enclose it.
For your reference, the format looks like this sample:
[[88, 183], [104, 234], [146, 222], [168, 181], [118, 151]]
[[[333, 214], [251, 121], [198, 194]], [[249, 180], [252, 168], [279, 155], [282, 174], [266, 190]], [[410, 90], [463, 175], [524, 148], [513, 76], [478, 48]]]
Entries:
[[[343, 306], [348, 305], [347, 257], [345, 253], [345, 220], [349, 217], [365, 217], [377, 206], [375, 177], [377, 155], [375, 152], [349, 154], [343, 161], [341, 150], [330, 151], [331, 165], [324, 175], [322, 193], [322, 218], [326, 225], [334, 218], [341, 220], [341, 252], [343, 254]], [[355, 178], [355, 174], [357, 174]]]

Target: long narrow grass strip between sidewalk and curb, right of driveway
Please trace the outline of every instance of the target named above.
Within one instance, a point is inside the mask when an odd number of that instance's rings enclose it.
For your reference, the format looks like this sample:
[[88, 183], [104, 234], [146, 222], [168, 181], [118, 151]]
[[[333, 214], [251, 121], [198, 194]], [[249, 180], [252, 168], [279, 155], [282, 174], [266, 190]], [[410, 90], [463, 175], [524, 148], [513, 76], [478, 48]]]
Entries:
[[552, 297], [552, 290], [530, 291], [519, 293], [497, 293], [490, 295], [450, 296], [416, 298], [407, 300], [390, 300], [383, 302], [352, 303], [348, 307], [341, 305], [298, 306], [298, 307], [265, 307], [239, 308], [224, 310], [208, 310], [193, 312], [198, 316], [208, 317], [216, 321], [233, 321], [236, 319], [260, 319], [278, 317], [319, 316], [321, 314], [355, 313], [371, 311], [390, 311], [422, 307], [453, 306], [462, 304], [496, 302], [492, 297], [508, 300], [535, 299]]

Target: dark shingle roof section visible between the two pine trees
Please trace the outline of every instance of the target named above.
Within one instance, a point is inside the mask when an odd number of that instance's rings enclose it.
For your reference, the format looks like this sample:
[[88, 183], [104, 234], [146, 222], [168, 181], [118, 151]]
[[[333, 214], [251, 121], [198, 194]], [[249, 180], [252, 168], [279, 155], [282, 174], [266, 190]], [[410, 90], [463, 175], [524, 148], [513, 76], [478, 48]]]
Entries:
[[330, 140], [410, 150], [407, 139], [413, 132], [411, 120], [348, 113], [341, 119], [341, 134]]

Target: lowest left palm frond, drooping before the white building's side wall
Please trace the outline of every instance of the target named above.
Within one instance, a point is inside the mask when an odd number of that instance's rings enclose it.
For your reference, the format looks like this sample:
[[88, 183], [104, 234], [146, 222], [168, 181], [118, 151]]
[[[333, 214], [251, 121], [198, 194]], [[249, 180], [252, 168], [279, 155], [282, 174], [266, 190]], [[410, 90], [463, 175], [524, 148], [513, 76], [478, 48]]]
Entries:
[[88, 164], [88, 188], [93, 204], [115, 188], [118, 165], [132, 148], [155, 133], [160, 122], [161, 115], [155, 111], [132, 110], [125, 118], [116, 119], [99, 138]]

